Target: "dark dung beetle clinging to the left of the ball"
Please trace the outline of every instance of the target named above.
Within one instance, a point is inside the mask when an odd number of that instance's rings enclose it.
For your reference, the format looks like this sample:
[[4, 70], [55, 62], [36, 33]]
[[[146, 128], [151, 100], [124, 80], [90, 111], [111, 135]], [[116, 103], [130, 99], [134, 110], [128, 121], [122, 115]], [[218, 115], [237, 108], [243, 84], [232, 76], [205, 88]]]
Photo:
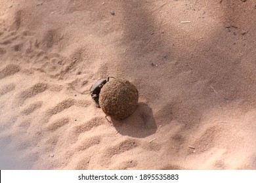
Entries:
[[108, 77], [107, 79], [100, 79], [93, 84], [91, 88], [91, 97], [93, 98], [93, 101], [95, 101], [96, 107], [100, 108], [100, 105], [98, 103], [98, 97], [100, 96], [100, 90], [110, 80], [110, 78], [115, 78], [113, 76]]

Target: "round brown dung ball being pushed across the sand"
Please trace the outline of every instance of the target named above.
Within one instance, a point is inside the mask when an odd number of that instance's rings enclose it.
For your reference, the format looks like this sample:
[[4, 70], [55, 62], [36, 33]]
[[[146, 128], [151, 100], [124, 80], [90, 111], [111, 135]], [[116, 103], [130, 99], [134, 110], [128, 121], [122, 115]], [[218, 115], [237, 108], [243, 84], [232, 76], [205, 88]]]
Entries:
[[114, 78], [100, 91], [100, 108], [107, 116], [123, 120], [131, 116], [138, 105], [139, 92], [128, 80]]

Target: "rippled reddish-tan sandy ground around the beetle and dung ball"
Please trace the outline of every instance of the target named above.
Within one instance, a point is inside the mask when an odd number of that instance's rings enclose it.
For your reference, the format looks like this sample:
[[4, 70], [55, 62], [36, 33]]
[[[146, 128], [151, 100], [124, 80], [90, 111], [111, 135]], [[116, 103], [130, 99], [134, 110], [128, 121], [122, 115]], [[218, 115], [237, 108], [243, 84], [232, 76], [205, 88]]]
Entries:
[[[256, 169], [255, 1], [0, 5], [1, 169]], [[107, 76], [139, 90], [122, 122]]]

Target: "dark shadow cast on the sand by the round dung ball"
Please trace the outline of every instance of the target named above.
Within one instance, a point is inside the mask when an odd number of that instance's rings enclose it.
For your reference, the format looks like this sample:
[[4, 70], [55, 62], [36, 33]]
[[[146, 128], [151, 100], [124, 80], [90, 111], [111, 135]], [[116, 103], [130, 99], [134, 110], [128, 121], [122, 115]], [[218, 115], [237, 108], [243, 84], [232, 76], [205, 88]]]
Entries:
[[156, 133], [157, 125], [152, 108], [146, 103], [139, 103], [135, 112], [125, 120], [117, 121], [111, 118], [116, 131], [121, 135], [144, 138]]

